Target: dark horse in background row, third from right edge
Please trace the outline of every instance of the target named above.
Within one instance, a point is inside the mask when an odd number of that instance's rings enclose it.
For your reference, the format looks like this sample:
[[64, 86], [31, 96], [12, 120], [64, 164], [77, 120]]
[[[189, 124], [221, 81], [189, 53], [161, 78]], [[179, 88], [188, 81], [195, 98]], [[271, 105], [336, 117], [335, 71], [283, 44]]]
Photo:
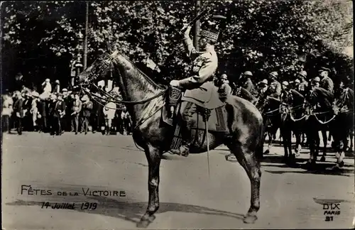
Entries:
[[292, 132], [296, 137], [295, 153], [300, 153], [301, 133], [305, 122], [305, 97], [294, 89], [283, 97], [280, 107], [281, 126], [280, 133], [283, 137], [283, 148], [285, 150], [285, 163], [294, 163], [295, 154], [292, 153]]

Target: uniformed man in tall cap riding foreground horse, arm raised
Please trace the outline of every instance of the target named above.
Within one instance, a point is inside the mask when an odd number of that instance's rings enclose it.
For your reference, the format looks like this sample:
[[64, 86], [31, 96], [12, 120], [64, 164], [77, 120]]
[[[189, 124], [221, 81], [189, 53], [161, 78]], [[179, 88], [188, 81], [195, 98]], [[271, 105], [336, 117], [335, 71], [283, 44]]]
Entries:
[[[209, 84], [213, 84], [213, 75], [217, 70], [218, 59], [217, 53], [214, 51], [214, 44], [217, 42], [218, 33], [212, 31], [201, 30], [200, 33], [200, 52], [195, 49], [190, 38], [191, 26], [187, 27], [184, 36], [184, 43], [187, 47], [187, 55], [193, 60], [192, 71], [190, 76], [183, 80], [172, 80], [170, 86], [180, 87], [183, 90], [190, 89], [195, 91], [196, 94], [206, 94]], [[194, 93], [195, 93], [194, 92]], [[180, 116], [182, 117], [182, 146], [179, 150], [172, 150], [172, 153], [187, 156], [190, 149], [190, 121], [192, 121], [192, 114], [195, 114], [196, 105], [192, 104], [190, 109], [186, 109], [188, 102], [182, 102], [180, 107]], [[191, 103], [189, 103], [191, 104]]]

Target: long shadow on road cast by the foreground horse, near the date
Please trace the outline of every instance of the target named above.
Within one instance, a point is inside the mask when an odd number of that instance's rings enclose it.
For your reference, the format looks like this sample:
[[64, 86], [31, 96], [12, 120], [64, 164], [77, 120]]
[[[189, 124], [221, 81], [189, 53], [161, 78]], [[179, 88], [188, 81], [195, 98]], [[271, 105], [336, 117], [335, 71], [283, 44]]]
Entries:
[[[88, 198], [88, 197], [87, 197]], [[121, 202], [116, 199], [111, 199], [108, 197], [89, 197], [92, 199], [90, 202], [97, 202], [97, 209], [95, 210], [82, 210], [80, 209], [80, 204], [75, 209], [77, 212], [85, 212], [89, 214], [100, 214], [108, 217], [115, 217], [119, 219], [124, 219], [126, 221], [131, 221], [134, 224], [137, 224], [141, 219], [141, 216], [146, 211], [148, 202], [130, 202], [125, 201]], [[87, 202], [87, 201], [82, 201]], [[7, 203], [7, 205], [16, 205], [16, 206], [39, 206], [42, 207], [43, 202], [31, 202], [17, 200], [16, 202]], [[49, 209], [52, 209], [49, 207]], [[195, 214], [208, 214], [212, 216], [223, 216], [231, 217], [235, 219], [243, 219], [244, 215], [235, 214], [232, 212], [224, 212], [218, 209], [210, 209], [207, 207], [190, 205], [190, 204], [178, 204], [178, 203], [169, 203], [169, 202], [160, 202], [160, 208], [157, 214], [165, 212], [185, 212], [185, 213], [195, 213]]]

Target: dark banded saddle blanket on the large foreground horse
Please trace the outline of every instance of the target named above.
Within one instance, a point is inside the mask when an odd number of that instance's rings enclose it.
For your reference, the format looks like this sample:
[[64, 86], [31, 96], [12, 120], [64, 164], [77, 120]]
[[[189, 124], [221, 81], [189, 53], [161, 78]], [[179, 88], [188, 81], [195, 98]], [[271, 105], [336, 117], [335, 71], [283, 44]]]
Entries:
[[[192, 104], [192, 102], [187, 104], [185, 110], [191, 109], [190, 104]], [[192, 129], [204, 130], [206, 128], [204, 119], [202, 117], [202, 114], [200, 114], [199, 109], [197, 109], [197, 112], [195, 112], [195, 114], [193, 114], [192, 117], [193, 117], [193, 121], [195, 121], [193, 122], [193, 125], [191, 127]], [[170, 126], [174, 126], [173, 119], [170, 119], [168, 117], [168, 110], [165, 107], [163, 107], [162, 109], [162, 118], [166, 124], [169, 124]], [[211, 114], [209, 115], [207, 121], [208, 131], [226, 133], [228, 132], [226, 122], [227, 122], [227, 113], [226, 113], [225, 106], [220, 106], [217, 109], [212, 109]]]

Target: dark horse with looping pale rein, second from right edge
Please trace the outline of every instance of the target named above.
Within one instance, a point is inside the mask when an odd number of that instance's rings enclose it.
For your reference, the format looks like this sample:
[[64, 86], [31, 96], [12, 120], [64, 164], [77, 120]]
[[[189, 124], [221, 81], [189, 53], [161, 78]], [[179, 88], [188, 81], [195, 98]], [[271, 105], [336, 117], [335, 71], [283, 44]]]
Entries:
[[[310, 159], [307, 162], [307, 166], [312, 166], [315, 164], [318, 156], [318, 149], [320, 146], [320, 136], [318, 131], [325, 132], [329, 128], [331, 133], [339, 132], [339, 127], [337, 127], [338, 122], [336, 119], [336, 112], [334, 111], [334, 106], [332, 104], [334, 95], [328, 92], [322, 87], [316, 87], [312, 89], [307, 100], [307, 118], [305, 121], [305, 131], [307, 133], [308, 143], [310, 146]], [[340, 128], [342, 129], [342, 128]], [[334, 134], [333, 134], [334, 135]], [[339, 142], [337, 135], [334, 137], [334, 142]], [[324, 150], [321, 161], [324, 161], [324, 155], [327, 151], [327, 136], [323, 137]], [[342, 166], [342, 158], [337, 156], [337, 166]]]

